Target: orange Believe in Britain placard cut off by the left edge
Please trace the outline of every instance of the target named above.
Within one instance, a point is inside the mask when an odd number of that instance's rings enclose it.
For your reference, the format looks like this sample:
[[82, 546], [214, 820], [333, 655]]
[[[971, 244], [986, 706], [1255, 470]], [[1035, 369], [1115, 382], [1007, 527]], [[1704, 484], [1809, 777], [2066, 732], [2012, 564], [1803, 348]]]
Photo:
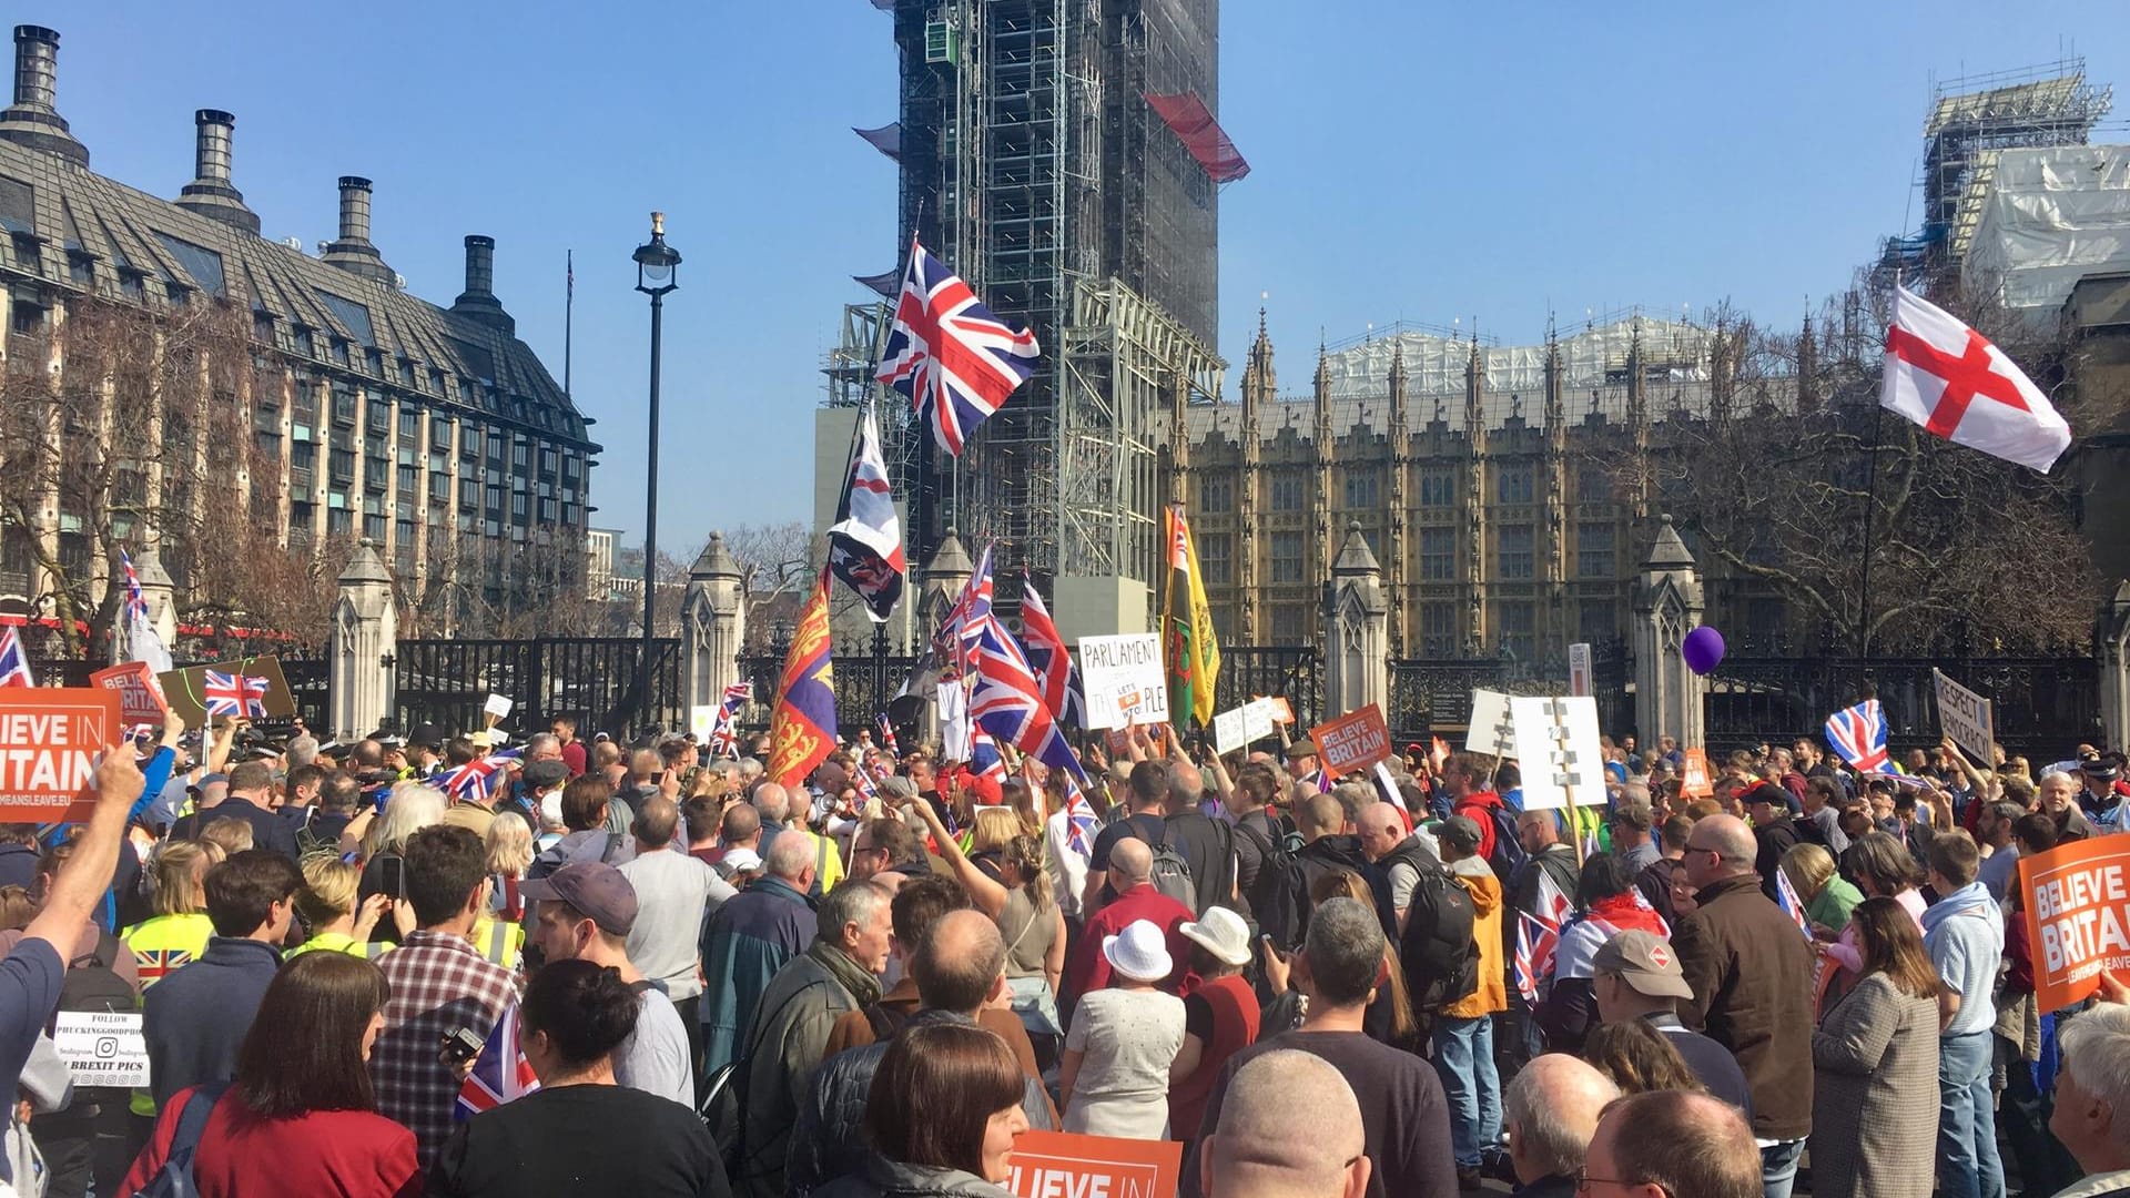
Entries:
[[117, 691], [0, 689], [0, 821], [89, 819], [96, 799], [83, 791], [121, 727]]

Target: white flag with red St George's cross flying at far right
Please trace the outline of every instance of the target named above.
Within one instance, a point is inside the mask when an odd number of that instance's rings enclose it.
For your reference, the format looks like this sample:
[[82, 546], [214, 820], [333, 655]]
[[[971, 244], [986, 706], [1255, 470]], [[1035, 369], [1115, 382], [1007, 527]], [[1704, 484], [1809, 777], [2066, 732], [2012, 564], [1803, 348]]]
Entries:
[[2070, 424], [2026, 371], [1981, 333], [1898, 284], [1879, 405], [1955, 446], [2041, 473], [2070, 448]]

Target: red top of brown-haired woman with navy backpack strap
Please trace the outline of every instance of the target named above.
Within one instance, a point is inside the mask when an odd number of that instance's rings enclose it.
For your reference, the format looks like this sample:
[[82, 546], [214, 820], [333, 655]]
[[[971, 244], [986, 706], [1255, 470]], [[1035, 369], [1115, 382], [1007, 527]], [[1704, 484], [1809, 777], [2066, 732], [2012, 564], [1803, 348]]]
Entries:
[[[162, 1170], [177, 1132], [181, 1089], [155, 1119], [119, 1194], [138, 1194]], [[200, 1132], [192, 1157], [200, 1198], [253, 1198], [268, 1194], [341, 1194], [345, 1198], [415, 1198], [422, 1166], [413, 1132], [371, 1111], [311, 1111], [294, 1119], [264, 1119], [226, 1091]]]

